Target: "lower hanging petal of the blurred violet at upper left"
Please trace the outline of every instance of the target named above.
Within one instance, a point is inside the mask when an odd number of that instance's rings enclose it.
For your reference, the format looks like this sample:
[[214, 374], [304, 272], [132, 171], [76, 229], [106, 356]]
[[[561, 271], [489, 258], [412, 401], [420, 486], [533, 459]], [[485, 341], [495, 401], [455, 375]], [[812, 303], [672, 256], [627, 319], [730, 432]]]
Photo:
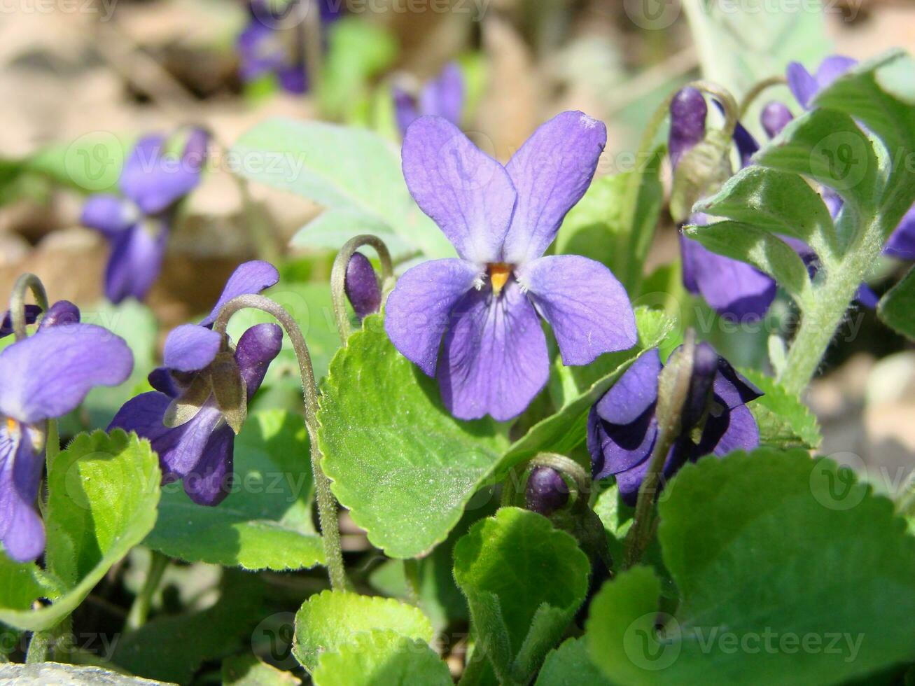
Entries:
[[166, 222], [149, 220], [114, 241], [105, 267], [105, 297], [114, 305], [129, 297], [144, 300], [162, 271], [168, 241]]

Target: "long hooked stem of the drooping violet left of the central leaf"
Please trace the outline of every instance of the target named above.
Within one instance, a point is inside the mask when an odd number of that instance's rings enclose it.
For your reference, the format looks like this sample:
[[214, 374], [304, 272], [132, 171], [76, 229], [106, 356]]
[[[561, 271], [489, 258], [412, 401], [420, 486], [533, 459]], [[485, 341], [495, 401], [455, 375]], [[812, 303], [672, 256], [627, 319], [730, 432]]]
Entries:
[[321, 469], [321, 451], [318, 449], [318, 386], [315, 383], [315, 372], [311, 366], [311, 355], [302, 331], [296, 320], [280, 305], [264, 295], [239, 295], [232, 298], [220, 310], [213, 323], [213, 330], [225, 333], [232, 315], [242, 309], [251, 307], [266, 312], [285, 329], [296, 351], [298, 370], [302, 377], [302, 393], [305, 398], [305, 425], [311, 444], [311, 468], [315, 477], [315, 488], [318, 492], [318, 517], [321, 525], [321, 540], [324, 542], [325, 563], [328, 565], [330, 586], [334, 589], [345, 589], [348, 586], [346, 570], [343, 567], [343, 552], [340, 548], [340, 532], [337, 520], [337, 501], [330, 492], [330, 480]]

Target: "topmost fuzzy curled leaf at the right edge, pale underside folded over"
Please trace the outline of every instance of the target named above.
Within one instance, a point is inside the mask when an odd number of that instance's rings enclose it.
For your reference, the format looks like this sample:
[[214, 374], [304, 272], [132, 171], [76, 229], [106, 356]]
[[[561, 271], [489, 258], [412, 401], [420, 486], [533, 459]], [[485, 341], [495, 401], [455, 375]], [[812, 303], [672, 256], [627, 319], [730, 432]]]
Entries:
[[883, 203], [888, 230], [899, 223], [915, 197], [906, 160], [915, 152], [915, 60], [899, 49], [869, 59], [816, 97], [816, 105], [846, 113], [877, 134], [892, 166]]

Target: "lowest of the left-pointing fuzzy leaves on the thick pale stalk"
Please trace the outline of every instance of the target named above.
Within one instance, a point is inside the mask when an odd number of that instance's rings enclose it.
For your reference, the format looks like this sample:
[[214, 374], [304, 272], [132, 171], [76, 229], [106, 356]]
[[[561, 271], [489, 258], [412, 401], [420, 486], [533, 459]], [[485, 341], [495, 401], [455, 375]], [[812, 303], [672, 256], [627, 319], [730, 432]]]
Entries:
[[712, 252], [752, 264], [768, 273], [799, 305], [806, 305], [811, 293], [807, 267], [788, 243], [768, 231], [725, 220], [707, 226], [686, 227], [684, 234]]

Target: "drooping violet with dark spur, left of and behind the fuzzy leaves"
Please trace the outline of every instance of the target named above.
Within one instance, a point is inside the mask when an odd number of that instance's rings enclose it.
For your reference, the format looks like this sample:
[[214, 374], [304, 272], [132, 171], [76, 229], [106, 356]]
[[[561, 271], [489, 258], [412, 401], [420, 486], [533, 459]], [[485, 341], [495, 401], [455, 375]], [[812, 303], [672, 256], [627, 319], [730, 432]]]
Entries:
[[[684, 88], [673, 97], [669, 150], [674, 171], [683, 155], [705, 137], [706, 113], [705, 98], [700, 91]], [[759, 145], [739, 123], [734, 140], [743, 164], [749, 164]], [[707, 218], [694, 214], [689, 223], [703, 225]], [[737, 320], [763, 316], [775, 299], [775, 282], [769, 276], [750, 264], [708, 250], [682, 231], [680, 253], [684, 288], [693, 295], [702, 295], [721, 316]]]

